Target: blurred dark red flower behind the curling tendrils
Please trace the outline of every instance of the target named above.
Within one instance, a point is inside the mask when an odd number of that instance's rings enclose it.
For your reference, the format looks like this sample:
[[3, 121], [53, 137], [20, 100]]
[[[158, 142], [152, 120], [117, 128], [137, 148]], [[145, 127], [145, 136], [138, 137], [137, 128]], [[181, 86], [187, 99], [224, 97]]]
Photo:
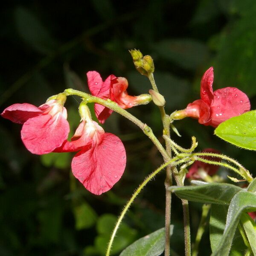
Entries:
[[[215, 150], [213, 148], [206, 148], [202, 152], [220, 154], [218, 150]], [[202, 158], [210, 161], [221, 162], [221, 159], [218, 157], [202, 157]], [[192, 164], [192, 166], [189, 168], [189, 172], [186, 174], [186, 178], [190, 178], [192, 180], [201, 179], [201, 176], [198, 172], [200, 171], [200, 169], [202, 169], [208, 175], [214, 175], [218, 171], [219, 166], [209, 164], [209, 163], [203, 163], [200, 161], [195, 161]]]

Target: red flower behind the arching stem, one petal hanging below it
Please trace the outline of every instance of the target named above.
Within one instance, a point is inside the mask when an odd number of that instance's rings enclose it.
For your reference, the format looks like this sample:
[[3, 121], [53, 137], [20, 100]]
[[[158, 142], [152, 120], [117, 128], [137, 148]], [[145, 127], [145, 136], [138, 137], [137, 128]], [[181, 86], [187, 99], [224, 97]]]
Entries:
[[[126, 89], [128, 81], [124, 77], [108, 76], [103, 82], [100, 74], [96, 71], [87, 72], [88, 86], [93, 96], [102, 99], [111, 99], [121, 108], [131, 108], [138, 105], [138, 97], [128, 95]], [[99, 122], [104, 123], [105, 120], [113, 112], [111, 109], [102, 105], [95, 104], [94, 110]]]

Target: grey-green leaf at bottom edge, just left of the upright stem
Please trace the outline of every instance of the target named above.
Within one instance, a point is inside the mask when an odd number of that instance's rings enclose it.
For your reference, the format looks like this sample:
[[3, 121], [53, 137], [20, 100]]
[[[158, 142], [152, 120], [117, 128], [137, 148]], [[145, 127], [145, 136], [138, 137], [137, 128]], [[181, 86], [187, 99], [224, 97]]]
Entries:
[[[172, 236], [173, 226], [170, 226]], [[165, 245], [165, 228], [161, 228], [128, 246], [120, 256], [158, 256], [163, 253]]]

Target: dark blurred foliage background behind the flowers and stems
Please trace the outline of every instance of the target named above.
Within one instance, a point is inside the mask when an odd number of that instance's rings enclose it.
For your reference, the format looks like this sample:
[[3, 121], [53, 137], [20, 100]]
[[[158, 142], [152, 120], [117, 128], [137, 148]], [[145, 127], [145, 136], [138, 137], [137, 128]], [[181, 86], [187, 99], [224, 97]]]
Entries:
[[[210, 65], [215, 68], [215, 89], [236, 86], [250, 96], [252, 109], [256, 107], [255, 0], [137, 0], [127, 5], [115, 0], [14, 0], [3, 3], [0, 24], [1, 112], [17, 102], [41, 105], [67, 87], [88, 91], [89, 70], [97, 70], [103, 79], [111, 73], [128, 78], [131, 95], [147, 93], [150, 84], [136, 73], [128, 53], [134, 48], [154, 58], [167, 113], [199, 98], [200, 79]], [[79, 102], [76, 97], [67, 100], [69, 137], [79, 123]], [[93, 105], [90, 108], [93, 111]], [[129, 111], [160, 138], [155, 106]], [[213, 135], [213, 128], [193, 119], [175, 126], [182, 137], [173, 138], [180, 145], [189, 147], [194, 135], [198, 150], [216, 148], [256, 175], [253, 151], [225, 143]], [[110, 192], [95, 196], [70, 175], [73, 153], [32, 155], [21, 143], [20, 126], [1, 119], [0, 255], [103, 254], [123, 205], [145, 175], [162, 163], [154, 145], [132, 123], [113, 113], [103, 127], [123, 140], [127, 167]], [[158, 175], [134, 202], [113, 248], [117, 254], [163, 227], [164, 178], [164, 173]], [[172, 207], [171, 247], [183, 255], [179, 199], [173, 197]], [[191, 204], [190, 209], [194, 241], [201, 206]], [[200, 252], [210, 254], [209, 233], [203, 236]]]

